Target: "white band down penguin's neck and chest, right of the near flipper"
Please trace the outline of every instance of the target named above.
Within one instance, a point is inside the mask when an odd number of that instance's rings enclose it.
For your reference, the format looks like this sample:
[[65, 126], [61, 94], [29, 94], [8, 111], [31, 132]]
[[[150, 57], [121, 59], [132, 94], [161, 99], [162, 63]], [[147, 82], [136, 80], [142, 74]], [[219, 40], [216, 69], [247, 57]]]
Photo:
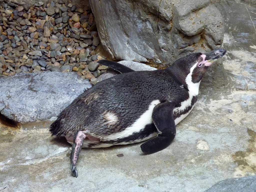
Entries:
[[[181, 102], [180, 107], [174, 108], [174, 110], [173, 110], [174, 113], [184, 111], [187, 107], [189, 107], [191, 105], [191, 101], [192, 101], [193, 96], [198, 95], [199, 85], [200, 85], [201, 81], [199, 81], [198, 83], [193, 83], [192, 82], [192, 73], [193, 73], [193, 70], [195, 69], [196, 66], [197, 66], [197, 63], [195, 65], [193, 65], [193, 67], [190, 68], [190, 73], [186, 77], [186, 83], [188, 85], [189, 98], [187, 100]], [[194, 106], [192, 106], [191, 110], [193, 109], [193, 107]], [[175, 119], [175, 125], [177, 125], [181, 120], [183, 120], [190, 113], [190, 111], [188, 113], [180, 115], [178, 118], [176, 118]]]

